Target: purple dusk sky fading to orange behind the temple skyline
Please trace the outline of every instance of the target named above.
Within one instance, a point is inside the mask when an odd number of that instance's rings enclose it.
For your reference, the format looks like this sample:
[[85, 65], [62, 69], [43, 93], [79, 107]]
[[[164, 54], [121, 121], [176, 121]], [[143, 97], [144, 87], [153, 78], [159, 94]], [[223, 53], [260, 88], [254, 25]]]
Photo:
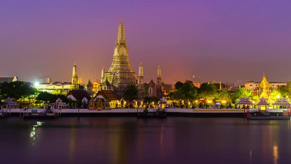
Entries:
[[0, 75], [100, 80], [121, 16], [146, 82], [291, 80], [290, 0], [1, 0]]

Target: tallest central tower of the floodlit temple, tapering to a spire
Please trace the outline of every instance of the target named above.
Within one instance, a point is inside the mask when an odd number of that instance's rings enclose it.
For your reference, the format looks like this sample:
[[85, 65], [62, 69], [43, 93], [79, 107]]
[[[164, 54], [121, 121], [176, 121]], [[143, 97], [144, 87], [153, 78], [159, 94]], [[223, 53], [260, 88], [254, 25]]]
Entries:
[[136, 82], [136, 73], [132, 71], [129, 64], [124, 25], [122, 23], [122, 18], [120, 18], [113, 61], [108, 72], [102, 71], [100, 88], [102, 90], [114, 90], [121, 98], [125, 87], [128, 84], [136, 84]]

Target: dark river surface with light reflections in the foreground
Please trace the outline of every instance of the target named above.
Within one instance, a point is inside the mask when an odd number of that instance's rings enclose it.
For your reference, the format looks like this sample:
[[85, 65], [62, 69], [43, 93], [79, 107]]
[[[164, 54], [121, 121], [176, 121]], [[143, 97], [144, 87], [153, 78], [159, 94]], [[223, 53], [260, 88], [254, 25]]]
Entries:
[[291, 122], [242, 118], [0, 120], [0, 164], [287, 164]]

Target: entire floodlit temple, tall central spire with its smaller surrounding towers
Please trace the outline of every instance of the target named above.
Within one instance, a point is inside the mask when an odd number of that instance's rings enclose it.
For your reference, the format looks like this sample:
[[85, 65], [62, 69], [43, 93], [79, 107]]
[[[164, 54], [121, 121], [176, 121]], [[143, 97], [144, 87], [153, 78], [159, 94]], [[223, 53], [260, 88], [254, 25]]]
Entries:
[[[164, 90], [162, 86], [160, 66], [157, 68], [156, 83], [154, 83], [153, 80], [149, 83], [145, 83], [142, 63], [140, 63], [139, 66], [138, 76], [132, 71], [128, 58], [128, 47], [125, 40], [125, 28], [122, 23], [122, 18], [120, 18], [117, 40], [115, 41], [114, 46], [113, 60], [109, 70], [105, 72], [105, 68], [103, 67], [101, 71], [101, 81], [98, 82], [98, 88], [94, 91], [92, 90], [93, 84], [90, 82], [90, 79], [88, 79], [88, 82], [84, 87], [89, 95], [96, 95], [100, 91], [102, 92], [101, 94], [104, 94], [105, 96], [109, 96], [106, 94], [110, 94], [110, 96], [114, 95], [115, 97], [122, 99], [124, 90], [131, 84], [136, 85], [138, 88], [138, 101], [143, 101], [146, 96], [155, 96], [159, 99], [163, 97]], [[76, 64], [74, 64], [70, 90], [78, 89], [77, 67]]]

